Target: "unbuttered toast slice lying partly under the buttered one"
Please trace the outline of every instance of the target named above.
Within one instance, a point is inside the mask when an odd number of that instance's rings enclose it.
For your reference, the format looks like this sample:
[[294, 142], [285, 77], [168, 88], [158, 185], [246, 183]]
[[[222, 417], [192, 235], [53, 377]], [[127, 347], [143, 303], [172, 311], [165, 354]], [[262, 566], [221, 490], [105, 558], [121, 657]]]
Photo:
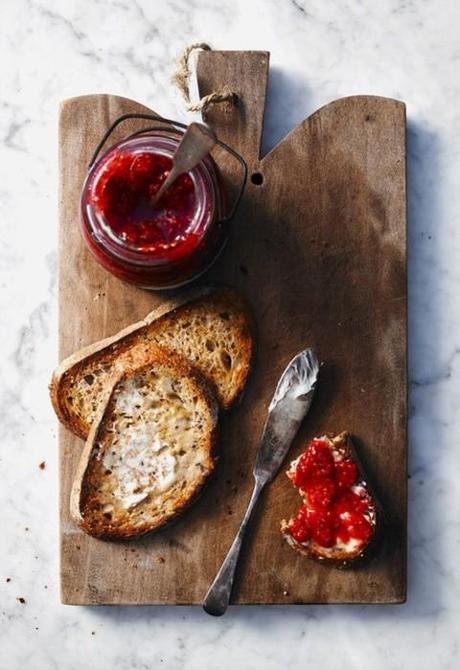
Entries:
[[187, 358], [227, 409], [241, 394], [253, 357], [252, 321], [241, 296], [206, 288], [165, 302], [143, 321], [65, 359], [54, 372], [50, 394], [60, 421], [86, 439], [114, 367], [141, 363], [164, 346]]

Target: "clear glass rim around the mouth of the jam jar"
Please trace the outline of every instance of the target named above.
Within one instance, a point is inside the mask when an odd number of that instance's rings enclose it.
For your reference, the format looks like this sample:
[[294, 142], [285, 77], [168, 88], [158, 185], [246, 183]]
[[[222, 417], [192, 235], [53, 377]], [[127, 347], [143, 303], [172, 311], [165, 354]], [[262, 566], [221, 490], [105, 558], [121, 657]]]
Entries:
[[[83, 225], [94, 242], [103, 246], [105, 251], [120, 261], [136, 265], [165, 265], [171, 261], [167, 255], [159, 255], [158, 251], [135, 248], [126, 244], [114, 234], [108, 224], [96, 216], [92, 205], [88, 202], [88, 195], [98, 178], [103, 166], [118, 152], [153, 153], [171, 158], [180, 142], [180, 137], [168, 134], [168, 131], [148, 132], [136, 137], [128, 137], [110, 146], [90, 167], [83, 183], [80, 199], [80, 216]], [[187, 232], [193, 234], [200, 244], [206, 236], [210, 226], [216, 218], [216, 167], [210, 156], [206, 156], [196, 167], [187, 173], [191, 178], [196, 208]]]

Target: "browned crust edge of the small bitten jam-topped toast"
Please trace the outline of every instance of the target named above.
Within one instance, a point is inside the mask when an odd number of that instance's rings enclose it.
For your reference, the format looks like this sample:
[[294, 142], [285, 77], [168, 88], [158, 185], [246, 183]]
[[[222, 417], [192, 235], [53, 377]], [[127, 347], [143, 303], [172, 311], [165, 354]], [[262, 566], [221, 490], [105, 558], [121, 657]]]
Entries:
[[[370, 538], [369, 542], [365, 545], [364, 548], [357, 548], [351, 551], [334, 550], [334, 555], [332, 556], [330, 550], [326, 549], [325, 547], [321, 547], [320, 545], [314, 542], [309, 542], [307, 546], [301, 544], [300, 542], [297, 542], [297, 540], [295, 540], [289, 533], [288, 530], [289, 521], [287, 521], [286, 519], [283, 519], [281, 521], [280, 530], [283, 538], [286, 540], [288, 545], [292, 547], [292, 549], [294, 549], [295, 551], [302, 554], [303, 556], [309, 558], [310, 560], [330, 565], [335, 568], [348, 568], [368, 558], [375, 550], [375, 547], [377, 546], [382, 536], [382, 529], [384, 526], [383, 510], [378, 499], [375, 496], [374, 490], [368, 483], [368, 478], [358, 458], [355, 446], [351, 439], [351, 435], [348, 432], [343, 431], [338, 435], [334, 435], [333, 433], [326, 433], [324, 437], [327, 437], [329, 440], [331, 440], [334, 451], [340, 452], [344, 456], [352, 458], [353, 461], [356, 463], [359, 472], [358, 481], [363, 482], [365, 484], [366, 490], [369, 493], [373, 503], [371, 508], [374, 518], [374, 522], [372, 524], [373, 528], [372, 537]], [[287, 474], [289, 476], [289, 470]]]

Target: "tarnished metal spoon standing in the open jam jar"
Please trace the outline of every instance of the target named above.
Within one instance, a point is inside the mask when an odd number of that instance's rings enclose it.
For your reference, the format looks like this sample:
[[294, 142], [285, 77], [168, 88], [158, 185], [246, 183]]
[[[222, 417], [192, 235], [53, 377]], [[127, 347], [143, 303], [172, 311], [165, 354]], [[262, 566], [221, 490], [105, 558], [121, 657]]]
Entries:
[[202, 123], [191, 123], [172, 157], [171, 171], [150, 200], [150, 205], [154, 207], [177, 177], [184, 172], [190, 172], [195, 165], [198, 165], [216, 142], [217, 138], [211, 128]]

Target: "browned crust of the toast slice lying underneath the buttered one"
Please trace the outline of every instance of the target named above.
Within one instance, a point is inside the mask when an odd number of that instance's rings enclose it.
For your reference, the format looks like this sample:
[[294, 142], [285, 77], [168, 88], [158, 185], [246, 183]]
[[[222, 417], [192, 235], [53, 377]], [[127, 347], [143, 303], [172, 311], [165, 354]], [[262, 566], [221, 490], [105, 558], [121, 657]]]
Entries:
[[[141, 337], [144, 331], [150, 330], [152, 326], [161, 329], [162, 320], [165, 317], [172, 316], [174, 318], [175, 313], [182, 313], [184, 308], [193, 310], [194, 305], [200, 300], [212, 296], [215, 296], [216, 300], [222, 302], [223, 305], [227, 304], [229, 308], [234, 309], [235, 305], [237, 305], [241, 317], [247, 326], [247, 333], [245, 333], [245, 336], [243, 336], [239, 342], [240, 351], [246, 363], [242, 365], [241, 370], [239, 371], [235, 391], [227, 400], [219, 398], [218, 396], [219, 403], [223, 409], [229, 409], [236, 404], [242, 395], [247, 377], [252, 367], [254, 356], [254, 322], [249, 307], [241, 295], [230, 288], [208, 286], [189, 290], [185, 294], [181, 294], [178, 298], [167, 300], [151, 311], [142, 321], [127, 326], [115, 335], [83, 347], [64, 359], [53, 372], [49, 384], [51, 403], [59, 421], [67, 426], [67, 428], [78, 437], [86, 439], [89, 433], [89, 428], [86, 422], [76, 413], [72, 412], [66, 402], [65, 387], [69, 377], [78, 372], [79, 367], [84, 365], [88, 359], [97, 359], [99, 355], [111, 347], [113, 347], [113, 350], [110, 352], [109, 360], [111, 360], [112, 366], [116, 366], [120, 349], [122, 349], [123, 352], [128, 351], [131, 343], [134, 345], [135, 339]], [[176, 356], [176, 353], [172, 353], [172, 356]], [[177, 354], [177, 356], [179, 358], [180, 354]], [[211, 379], [207, 378], [207, 382], [213, 386]], [[214, 390], [216, 389], [214, 388]]]

